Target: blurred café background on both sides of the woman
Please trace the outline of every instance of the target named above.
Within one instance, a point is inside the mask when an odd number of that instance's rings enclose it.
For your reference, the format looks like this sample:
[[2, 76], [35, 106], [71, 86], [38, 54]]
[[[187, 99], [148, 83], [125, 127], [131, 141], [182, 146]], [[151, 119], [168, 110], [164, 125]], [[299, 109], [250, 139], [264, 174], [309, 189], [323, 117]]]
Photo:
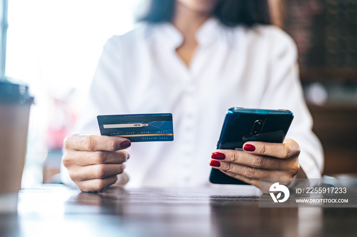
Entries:
[[[298, 46], [305, 98], [325, 150], [324, 173], [356, 173], [357, 0], [269, 3], [274, 24]], [[56, 182], [63, 139], [81, 113], [103, 45], [133, 28], [144, 3], [2, 0], [2, 5], [1, 73], [28, 84], [35, 96], [22, 186]]]

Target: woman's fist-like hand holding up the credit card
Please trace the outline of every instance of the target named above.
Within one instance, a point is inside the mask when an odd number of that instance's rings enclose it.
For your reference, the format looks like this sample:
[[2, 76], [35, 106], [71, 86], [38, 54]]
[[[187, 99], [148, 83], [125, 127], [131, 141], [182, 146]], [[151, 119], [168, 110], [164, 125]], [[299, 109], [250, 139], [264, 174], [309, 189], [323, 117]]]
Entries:
[[103, 191], [123, 173], [130, 145], [121, 137], [73, 134], [64, 140], [62, 162], [81, 191]]

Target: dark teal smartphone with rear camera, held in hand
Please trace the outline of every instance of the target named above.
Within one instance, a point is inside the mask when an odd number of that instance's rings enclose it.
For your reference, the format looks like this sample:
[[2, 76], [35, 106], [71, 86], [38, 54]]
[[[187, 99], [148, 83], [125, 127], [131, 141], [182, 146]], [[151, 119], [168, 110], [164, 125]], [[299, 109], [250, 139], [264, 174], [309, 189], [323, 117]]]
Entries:
[[[289, 110], [258, 110], [231, 108], [225, 113], [217, 149], [243, 150], [243, 144], [249, 141], [282, 143], [285, 139], [294, 115]], [[212, 168], [212, 183], [247, 185]]]

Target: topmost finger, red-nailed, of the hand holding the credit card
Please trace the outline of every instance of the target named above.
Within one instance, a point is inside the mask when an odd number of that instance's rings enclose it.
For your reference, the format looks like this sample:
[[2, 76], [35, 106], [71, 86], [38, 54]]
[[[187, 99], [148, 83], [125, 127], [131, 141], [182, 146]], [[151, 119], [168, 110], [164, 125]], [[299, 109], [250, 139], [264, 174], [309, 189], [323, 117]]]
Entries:
[[130, 146], [130, 140], [121, 137], [74, 134], [64, 140], [65, 149], [82, 151], [116, 151]]

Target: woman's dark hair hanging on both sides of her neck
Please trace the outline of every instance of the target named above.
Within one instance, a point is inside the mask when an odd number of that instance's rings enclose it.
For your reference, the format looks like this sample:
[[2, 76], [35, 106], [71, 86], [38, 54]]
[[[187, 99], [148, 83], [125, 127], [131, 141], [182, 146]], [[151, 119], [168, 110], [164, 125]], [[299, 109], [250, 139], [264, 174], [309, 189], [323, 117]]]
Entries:
[[[174, 12], [175, 0], [151, 0], [148, 11], [140, 20], [171, 21]], [[219, 0], [213, 15], [227, 27], [271, 24], [267, 0]]]

